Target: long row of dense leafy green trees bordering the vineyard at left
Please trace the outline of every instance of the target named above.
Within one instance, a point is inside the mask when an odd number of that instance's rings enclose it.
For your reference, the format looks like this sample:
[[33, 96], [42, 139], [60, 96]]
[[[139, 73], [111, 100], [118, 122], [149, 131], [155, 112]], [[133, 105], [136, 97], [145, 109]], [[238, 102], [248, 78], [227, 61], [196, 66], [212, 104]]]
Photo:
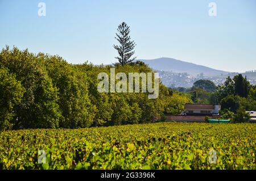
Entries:
[[[113, 66], [72, 65], [60, 56], [6, 47], [0, 53], [0, 129], [84, 128], [157, 121], [177, 113], [188, 96], [159, 85], [145, 93], [100, 93], [100, 72]], [[115, 65], [115, 72], [152, 72], [143, 62]]]

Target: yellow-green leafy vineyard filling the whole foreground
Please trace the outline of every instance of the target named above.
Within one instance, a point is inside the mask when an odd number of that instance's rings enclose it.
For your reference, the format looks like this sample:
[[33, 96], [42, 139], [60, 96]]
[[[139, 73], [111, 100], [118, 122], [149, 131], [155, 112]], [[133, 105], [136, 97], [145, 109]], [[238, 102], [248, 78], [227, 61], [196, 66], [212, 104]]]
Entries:
[[0, 169], [256, 169], [255, 140], [256, 124], [5, 131]]

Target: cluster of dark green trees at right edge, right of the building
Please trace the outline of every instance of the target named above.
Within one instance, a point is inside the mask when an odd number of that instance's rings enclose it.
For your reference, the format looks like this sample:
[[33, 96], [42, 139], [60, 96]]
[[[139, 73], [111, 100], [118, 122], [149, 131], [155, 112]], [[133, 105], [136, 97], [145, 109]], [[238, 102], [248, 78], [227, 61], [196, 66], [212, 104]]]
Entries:
[[250, 119], [247, 111], [256, 110], [256, 86], [250, 85], [242, 74], [228, 77], [225, 83], [214, 92], [216, 102], [220, 102], [222, 117], [235, 122], [245, 122]]

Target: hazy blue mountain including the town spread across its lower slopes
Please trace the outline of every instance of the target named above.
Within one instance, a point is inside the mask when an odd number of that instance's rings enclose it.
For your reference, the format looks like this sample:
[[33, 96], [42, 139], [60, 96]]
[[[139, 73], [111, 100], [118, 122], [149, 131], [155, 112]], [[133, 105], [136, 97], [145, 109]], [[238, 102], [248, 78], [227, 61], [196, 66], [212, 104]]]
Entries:
[[225, 71], [225, 68], [223, 68], [224, 70], [217, 70], [168, 57], [140, 61], [150, 66], [151, 69], [158, 71], [162, 83], [171, 88], [189, 88], [200, 79], [208, 79], [218, 86], [224, 83], [227, 77], [233, 78], [238, 74], [242, 74], [252, 85], [256, 85], [256, 70], [249, 70], [245, 73], [229, 72]]

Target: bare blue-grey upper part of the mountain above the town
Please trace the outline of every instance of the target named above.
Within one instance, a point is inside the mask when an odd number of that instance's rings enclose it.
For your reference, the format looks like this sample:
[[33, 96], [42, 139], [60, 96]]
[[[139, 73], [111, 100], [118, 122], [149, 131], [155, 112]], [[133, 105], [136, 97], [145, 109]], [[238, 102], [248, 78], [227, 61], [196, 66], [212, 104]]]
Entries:
[[216, 70], [207, 66], [192, 64], [189, 62], [176, 60], [174, 58], [156, 58], [152, 60], [139, 60], [148, 64], [154, 70], [171, 71], [172, 73], [188, 73], [190, 75], [198, 75], [203, 73], [206, 76], [217, 76], [229, 74], [228, 71]]

